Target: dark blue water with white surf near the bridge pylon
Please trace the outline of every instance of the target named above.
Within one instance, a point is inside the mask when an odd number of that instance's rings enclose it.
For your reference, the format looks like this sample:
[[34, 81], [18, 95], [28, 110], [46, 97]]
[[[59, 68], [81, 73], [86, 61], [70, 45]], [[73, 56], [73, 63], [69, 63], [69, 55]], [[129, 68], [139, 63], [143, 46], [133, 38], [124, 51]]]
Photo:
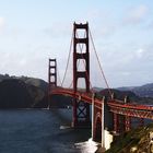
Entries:
[[70, 123], [71, 109], [0, 110], [0, 153], [94, 153], [91, 130]]

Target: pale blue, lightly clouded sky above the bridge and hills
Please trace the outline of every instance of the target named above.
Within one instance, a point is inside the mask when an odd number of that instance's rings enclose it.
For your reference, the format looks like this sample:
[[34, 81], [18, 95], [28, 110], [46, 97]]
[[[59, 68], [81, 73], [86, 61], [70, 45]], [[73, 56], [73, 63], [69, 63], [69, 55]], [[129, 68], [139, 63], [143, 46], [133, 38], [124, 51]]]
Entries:
[[[0, 73], [47, 81], [57, 58], [62, 78], [73, 22], [89, 22], [110, 87], [153, 82], [152, 0], [0, 0]], [[103, 86], [90, 64], [93, 86]]]

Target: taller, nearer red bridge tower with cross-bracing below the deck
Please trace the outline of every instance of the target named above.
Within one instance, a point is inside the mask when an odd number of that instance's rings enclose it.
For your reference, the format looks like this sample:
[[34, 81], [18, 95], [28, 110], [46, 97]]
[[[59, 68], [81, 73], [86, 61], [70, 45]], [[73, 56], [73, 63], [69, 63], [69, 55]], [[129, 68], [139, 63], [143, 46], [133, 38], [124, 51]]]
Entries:
[[[84, 32], [84, 36], [79, 36], [79, 32]], [[85, 46], [82, 52], [81, 45]], [[80, 48], [80, 49], [79, 49]], [[84, 50], [84, 49], [83, 49]], [[84, 71], [78, 70], [78, 61], [84, 60]], [[73, 91], [78, 89], [78, 80], [82, 78], [85, 81], [85, 92], [90, 92], [90, 51], [89, 51], [89, 23], [73, 24]], [[73, 127], [89, 127], [90, 121], [90, 104], [73, 99]]]

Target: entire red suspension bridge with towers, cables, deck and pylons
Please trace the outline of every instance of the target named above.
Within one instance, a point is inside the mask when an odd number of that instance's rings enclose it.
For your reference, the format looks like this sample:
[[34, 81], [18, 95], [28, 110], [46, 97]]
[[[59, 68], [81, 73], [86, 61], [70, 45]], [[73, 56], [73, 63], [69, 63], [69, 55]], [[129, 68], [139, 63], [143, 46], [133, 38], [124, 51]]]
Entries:
[[[79, 32], [83, 31], [83, 37], [79, 35]], [[92, 90], [92, 84], [90, 80], [90, 45], [89, 40], [93, 44], [97, 62], [99, 64], [101, 74], [106, 83], [109, 98], [106, 101], [104, 97], [102, 99], [95, 96], [94, 91]], [[83, 47], [85, 50], [83, 51]], [[123, 125], [123, 131], [129, 131], [131, 129], [131, 119], [139, 118], [141, 123], [143, 119], [153, 119], [153, 106], [139, 105], [134, 102], [129, 102], [127, 97], [123, 101], [116, 99], [111, 90], [109, 90], [108, 82], [105, 78], [104, 71], [102, 69], [98, 56], [94, 46], [91, 31], [89, 24], [73, 24], [73, 34], [70, 45], [70, 51], [73, 46], [73, 79], [70, 87], [63, 87], [63, 82], [68, 71], [68, 64], [70, 60], [67, 61], [67, 68], [64, 72], [61, 86], [57, 86], [57, 61], [56, 59], [49, 59], [49, 71], [48, 71], [48, 95], [67, 95], [72, 97], [72, 126], [78, 127], [89, 127], [91, 125], [90, 119], [90, 105], [92, 105], [92, 137], [93, 140], [101, 139], [103, 141], [104, 134], [104, 106], [107, 105], [109, 114], [113, 116], [113, 130], [115, 132], [120, 132], [120, 126]], [[80, 60], [83, 60], [83, 70], [79, 70]], [[85, 89], [82, 91], [79, 89], [78, 80], [84, 79]], [[72, 87], [71, 87], [72, 86]]]

